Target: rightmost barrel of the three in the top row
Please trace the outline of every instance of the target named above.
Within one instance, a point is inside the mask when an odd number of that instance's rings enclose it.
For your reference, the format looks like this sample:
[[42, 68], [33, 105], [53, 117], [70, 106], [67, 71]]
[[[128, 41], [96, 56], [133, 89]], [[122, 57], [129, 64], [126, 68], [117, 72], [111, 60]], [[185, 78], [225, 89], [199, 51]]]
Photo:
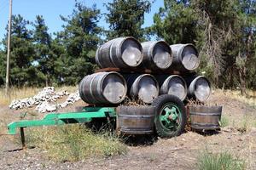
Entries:
[[173, 70], [194, 71], [199, 66], [200, 59], [193, 44], [174, 44], [170, 47], [173, 54]]

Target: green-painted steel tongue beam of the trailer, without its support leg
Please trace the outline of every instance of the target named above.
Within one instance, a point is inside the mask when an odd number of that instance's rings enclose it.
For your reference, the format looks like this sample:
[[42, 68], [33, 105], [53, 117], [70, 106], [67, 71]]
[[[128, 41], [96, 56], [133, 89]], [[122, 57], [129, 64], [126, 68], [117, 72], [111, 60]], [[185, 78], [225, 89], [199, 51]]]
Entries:
[[90, 122], [92, 118], [100, 118], [106, 116], [116, 116], [115, 108], [113, 107], [84, 107], [80, 112], [67, 113], [50, 113], [42, 120], [24, 120], [11, 122], [8, 125], [9, 134], [15, 134], [18, 127], [39, 127], [53, 126], [67, 123], [82, 123]]

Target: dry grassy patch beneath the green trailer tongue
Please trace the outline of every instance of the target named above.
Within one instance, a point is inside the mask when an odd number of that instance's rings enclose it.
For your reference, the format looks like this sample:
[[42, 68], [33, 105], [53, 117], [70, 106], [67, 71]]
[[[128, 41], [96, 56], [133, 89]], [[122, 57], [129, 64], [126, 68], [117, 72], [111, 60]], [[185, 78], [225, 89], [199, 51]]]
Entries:
[[93, 133], [81, 125], [31, 129], [26, 133], [26, 143], [38, 146], [55, 161], [118, 156], [127, 151], [127, 146], [115, 134]]

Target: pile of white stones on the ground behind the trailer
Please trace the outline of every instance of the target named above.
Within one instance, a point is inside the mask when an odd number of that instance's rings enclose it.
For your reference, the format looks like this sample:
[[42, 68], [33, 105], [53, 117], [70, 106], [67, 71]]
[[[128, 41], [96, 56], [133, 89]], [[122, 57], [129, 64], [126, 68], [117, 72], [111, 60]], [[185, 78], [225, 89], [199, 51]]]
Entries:
[[[63, 96], [67, 96], [66, 101], [61, 104], [51, 104], [51, 102], [56, 102], [57, 99], [61, 99]], [[33, 106], [36, 107], [36, 111], [44, 113], [50, 111], [56, 111], [59, 108], [67, 107], [67, 105], [73, 105], [74, 102], [80, 99], [79, 92], [69, 94], [66, 90], [61, 92], [55, 92], [54, 87], [47, 87], [44, 88], [41, 92], [37, 95], [25, 98], [25, 99], [17, 99], [12, 101], [9, 105], [10, 109], [23, 109], [29, 108]]]

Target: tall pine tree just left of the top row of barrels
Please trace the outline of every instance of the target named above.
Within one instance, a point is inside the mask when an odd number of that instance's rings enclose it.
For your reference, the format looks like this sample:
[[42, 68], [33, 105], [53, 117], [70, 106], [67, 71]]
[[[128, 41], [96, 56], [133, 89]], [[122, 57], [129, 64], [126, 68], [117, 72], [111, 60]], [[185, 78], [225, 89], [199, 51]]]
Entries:
[[65, 47], [65, 54], [56, 60], [58, 80], [65, 84], [79, 82], [94, 71], [97, 44], [101, 42], [102, 28], [97, 26], [100, 10], [76, 3], [73, 14], [61, 16], [67, 25], [57, 34], [56, 41]]

